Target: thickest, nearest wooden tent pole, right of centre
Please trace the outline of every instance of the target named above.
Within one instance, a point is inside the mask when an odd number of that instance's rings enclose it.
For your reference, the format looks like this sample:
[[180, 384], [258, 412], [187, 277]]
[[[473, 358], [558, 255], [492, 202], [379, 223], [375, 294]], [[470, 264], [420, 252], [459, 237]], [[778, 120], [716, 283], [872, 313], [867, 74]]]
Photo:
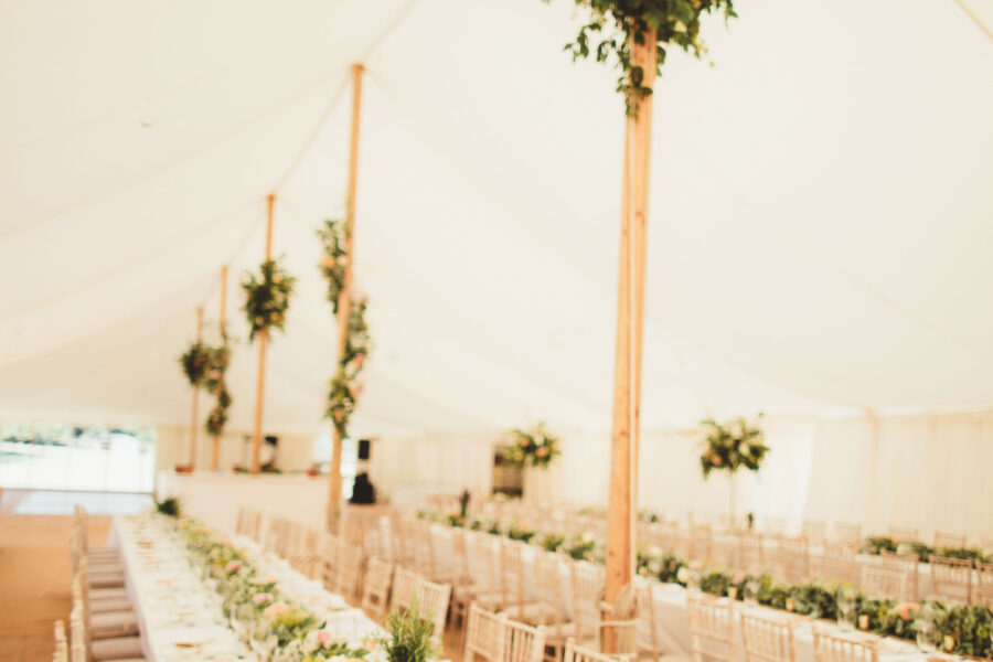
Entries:
[[[631, 43], [633, 61], [655, 81], [655, 35]], [[651, 154], [652, 97], [641, 102], [624, 126], [621, 199], [620, 270], [613, 375], [613, 426], [610, 439], [610, 493], [607, 512], [607, 602], [613, 604], [634, 573], [634, 515], [638, 489], [638, 439], [641, 417], [641, 348], [644, 316], [648, 182]], [[616, 649], [615, 632], [604, 637], [605, 652]]]

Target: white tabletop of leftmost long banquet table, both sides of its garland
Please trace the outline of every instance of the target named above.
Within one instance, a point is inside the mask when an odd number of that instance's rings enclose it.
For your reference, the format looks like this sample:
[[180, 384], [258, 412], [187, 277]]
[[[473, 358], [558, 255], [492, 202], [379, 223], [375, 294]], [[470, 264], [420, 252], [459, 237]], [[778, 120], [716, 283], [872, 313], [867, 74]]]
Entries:
[[[341, 596], [264, 554], [250, 538], [232, 536], [252, 563], [271, 576], [279, 590], [327, 621], [335, 639], [362, 641], [378, 626]], [[120, 547], [125, 584], [138, 617], [149, 662], [255, 662], [258, 656], [238, 640], [221, 608], [220, 596], [203, 580], [171, 521], [158, 515], [115, 517], [110, 545]]]

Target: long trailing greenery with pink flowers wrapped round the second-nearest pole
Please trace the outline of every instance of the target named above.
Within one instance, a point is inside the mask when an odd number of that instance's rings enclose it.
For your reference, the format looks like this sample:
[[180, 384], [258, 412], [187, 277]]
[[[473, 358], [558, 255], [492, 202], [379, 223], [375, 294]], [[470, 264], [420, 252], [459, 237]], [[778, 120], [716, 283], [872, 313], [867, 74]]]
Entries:
[[[341, 221], [328, 220], [324, 221], [324, 227], [318, 231], [318, 236], [324, 247], [324, 258], [319, 266], [328, 281], [328, 300], [337, 317], [338, 300], [345, 288], [349, 264], [348, 228]], [[367, 299], [361, 297], [354, 299], [349, 308], [344, 351], [338, 357], [338, 370], [331, 377], [328, 389], [328, 408], [324, 414], [342, 437], [348, 436], [349, 420], [362, 397], [363, 386], [359, 382], [359, 375], [372, 350], [372, 338], [365, 322], [367, 303]]]

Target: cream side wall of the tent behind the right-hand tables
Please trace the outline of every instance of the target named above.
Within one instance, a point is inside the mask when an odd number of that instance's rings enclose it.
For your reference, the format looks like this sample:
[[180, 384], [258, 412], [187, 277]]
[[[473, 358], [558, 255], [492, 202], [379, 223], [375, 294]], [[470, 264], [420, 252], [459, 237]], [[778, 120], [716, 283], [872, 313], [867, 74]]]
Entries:
[[[736, 477], [738, 514], [856, 522], [865, 533], [912, 526], [993, 537], [993, 413], [764, 421], [770, 447], [760, 473]], [[728, 480], [700, 472], [700, 431], [642, 438], [639, 508], [669, 516], [728, 512]], [[608, 436], [570, 437], [556, 493], [563, 501], [604, 505]]]

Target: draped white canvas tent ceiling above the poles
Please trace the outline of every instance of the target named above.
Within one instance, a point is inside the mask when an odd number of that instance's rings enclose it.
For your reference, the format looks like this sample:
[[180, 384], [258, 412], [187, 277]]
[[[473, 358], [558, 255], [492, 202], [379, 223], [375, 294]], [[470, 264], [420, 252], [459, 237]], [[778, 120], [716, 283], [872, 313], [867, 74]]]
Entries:
[[[644, 427], [993, 404], [993, 42], [952, 0], [739, 0], [656, 85]], [[982, 2], [980, 17], [993, 18]], [[622, 102], [572, 2], [0, 6], [0, 414], [183, 423], [217, 277], [299, 277], [270, 429], [319, 429], [367, 66], [360, 434], [609, 427]], [[232, 287], [233, 330], [246, 338]], [[256, 352], [236, 348], [235, 427]]]

